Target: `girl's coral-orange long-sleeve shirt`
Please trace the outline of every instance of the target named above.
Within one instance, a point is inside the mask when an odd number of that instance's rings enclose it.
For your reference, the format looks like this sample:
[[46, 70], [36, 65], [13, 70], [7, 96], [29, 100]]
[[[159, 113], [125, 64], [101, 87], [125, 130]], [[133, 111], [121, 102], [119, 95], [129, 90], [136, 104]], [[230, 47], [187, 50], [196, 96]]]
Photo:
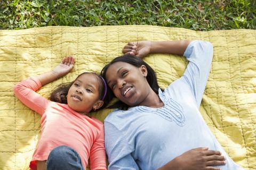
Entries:
[[84, 168], [90, 157], [90, 169], [107, 169], [103, 124], [66, 104], [45, 99], [35, 92], [41, 87], [36, 78], [24, 80], [14, 87], [18, 99], [42, 116], [41, 137], [29, 167], [36, 169], [37, 160], [47, 160], [52, 149], [65, 145], [78, 152]]

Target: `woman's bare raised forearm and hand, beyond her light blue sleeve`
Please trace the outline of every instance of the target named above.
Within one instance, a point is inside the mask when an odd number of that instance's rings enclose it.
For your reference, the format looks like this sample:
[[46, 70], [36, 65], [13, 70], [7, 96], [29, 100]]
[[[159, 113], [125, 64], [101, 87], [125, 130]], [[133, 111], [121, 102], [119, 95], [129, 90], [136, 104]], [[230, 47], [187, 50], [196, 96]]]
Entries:
[[189, 40], [130, 42], [123, 48], [123, 53], [136, 55], [141, 58], [152, 53], [182, 56], [190, 43], [191, 41]]

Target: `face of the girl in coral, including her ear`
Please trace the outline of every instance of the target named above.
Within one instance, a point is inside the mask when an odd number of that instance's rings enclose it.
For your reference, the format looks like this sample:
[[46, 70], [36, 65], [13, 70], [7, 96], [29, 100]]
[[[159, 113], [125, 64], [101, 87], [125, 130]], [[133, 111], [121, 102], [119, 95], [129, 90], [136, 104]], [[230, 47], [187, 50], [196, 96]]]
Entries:
[[79, 76], [68, 90], [68, 106], [74, 111], [89, 113], [93, 108], [103, 105], [99, 99], [99, 80], [94, 74], [85, 73]]

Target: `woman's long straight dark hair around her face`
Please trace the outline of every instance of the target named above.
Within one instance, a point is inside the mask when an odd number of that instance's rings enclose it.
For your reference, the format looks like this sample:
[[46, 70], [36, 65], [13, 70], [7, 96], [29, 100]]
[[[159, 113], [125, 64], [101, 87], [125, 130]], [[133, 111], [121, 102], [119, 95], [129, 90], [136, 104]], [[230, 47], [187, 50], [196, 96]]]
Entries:
[[[155, 71], [146, 62], [141, 60], [141, 58], [139, 58], [137, 56], [134, 56], [134, 55], [129, 55], [128, 54], [128, 55], [123, 55], [123, 56], [116, 57], [110, 63], [105, 65], [103, 67], [103, 69], [101, 70], [101, 73], [100, 73], [105, 80], [106, 80], [106, 73], [107, 73], [107, 70], [108, 70], [109, 66], [116, 63], [116, 62], [129, 63], [129, 64], [131, 64], [135, 67], [140, 67], [141, 65], [145, 65], [146, 68], [147, 68], [147, 71], [148, 71], [148, 74], [147, 74], [147, 77], [146, 77], [146, 79], [148, 81], [148, 84], [151, 87], [151, 89], [153, 89], [153, 91], [158, 95], [158, 89], [160, 87], [158, 86], [158, 83], [157, 83], [157, 78], [156, 78]], [[109, 92], [109, 94], [113, 97], [115, 96], [112, 90]], [[129, 107], [130, 106], [126, 105], [121, 100], [119, 100], [116, 103], [114, 103], [113, 105], [110, 105], [108, 108], [119, 108], [119, 109], [122, 109], [122, 110], [127, 110]]]

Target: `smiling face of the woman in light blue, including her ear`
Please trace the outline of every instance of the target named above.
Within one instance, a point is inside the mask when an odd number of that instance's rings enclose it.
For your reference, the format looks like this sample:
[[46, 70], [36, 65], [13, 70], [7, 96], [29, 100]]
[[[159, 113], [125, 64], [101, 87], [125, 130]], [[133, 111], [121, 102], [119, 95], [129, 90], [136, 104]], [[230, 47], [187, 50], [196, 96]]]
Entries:
[[149, 94], [147, 69], [129, 63], [116, 62], [108, 67], [106, 80], [115, 96], [129, 106], [138, 106]]

